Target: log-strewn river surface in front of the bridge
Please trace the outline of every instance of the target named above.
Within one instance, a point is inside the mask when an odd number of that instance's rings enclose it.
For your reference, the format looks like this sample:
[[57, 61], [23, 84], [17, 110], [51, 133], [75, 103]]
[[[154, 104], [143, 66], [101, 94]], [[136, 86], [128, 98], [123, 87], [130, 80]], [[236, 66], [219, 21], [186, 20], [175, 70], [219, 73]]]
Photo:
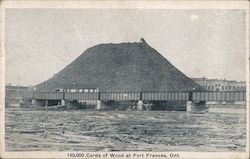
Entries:
[[6, 108], [6, 151], [245, 151], [246, 109], [205, 113]]

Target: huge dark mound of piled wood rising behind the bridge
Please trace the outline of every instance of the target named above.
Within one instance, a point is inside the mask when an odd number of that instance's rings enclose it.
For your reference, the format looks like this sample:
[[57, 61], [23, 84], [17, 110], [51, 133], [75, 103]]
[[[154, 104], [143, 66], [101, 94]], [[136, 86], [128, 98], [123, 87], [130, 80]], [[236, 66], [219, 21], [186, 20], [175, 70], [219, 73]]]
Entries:
[[140, 42], [91, 47], [52, 78], [38, 84], [37, 90], [42, 91], [46, 87], [53, 91], [72, 83], [98, 85], [100, 92], [205, 90], [150, 47], [143, 38]]

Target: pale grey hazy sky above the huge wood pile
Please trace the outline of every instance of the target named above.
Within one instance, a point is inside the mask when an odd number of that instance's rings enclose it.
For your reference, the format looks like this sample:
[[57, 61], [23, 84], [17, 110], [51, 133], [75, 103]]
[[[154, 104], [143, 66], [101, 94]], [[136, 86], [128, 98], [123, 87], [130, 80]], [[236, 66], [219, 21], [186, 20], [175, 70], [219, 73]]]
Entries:
[[100, 43], [146, 42], [189, 77], [245, 81], [244, 10], [7, 9], [5, 83], [36, 85]]

